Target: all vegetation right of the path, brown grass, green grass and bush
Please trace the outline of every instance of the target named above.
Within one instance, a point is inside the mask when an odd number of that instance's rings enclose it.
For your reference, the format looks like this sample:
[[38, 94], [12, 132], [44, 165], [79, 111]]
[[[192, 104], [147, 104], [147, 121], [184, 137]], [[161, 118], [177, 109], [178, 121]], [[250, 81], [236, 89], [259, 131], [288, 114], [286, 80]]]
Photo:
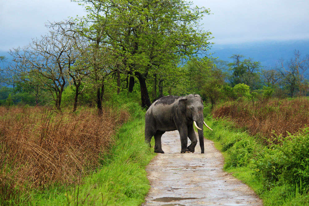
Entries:
[[[265, 205], [309, 204], [307, 98], [226, 103], [208, 117], [224, 169], [248, 184]], [[271, 109], [269, 109], [271, 108]], [[297, 125], [297, 126], [295, 126]]]

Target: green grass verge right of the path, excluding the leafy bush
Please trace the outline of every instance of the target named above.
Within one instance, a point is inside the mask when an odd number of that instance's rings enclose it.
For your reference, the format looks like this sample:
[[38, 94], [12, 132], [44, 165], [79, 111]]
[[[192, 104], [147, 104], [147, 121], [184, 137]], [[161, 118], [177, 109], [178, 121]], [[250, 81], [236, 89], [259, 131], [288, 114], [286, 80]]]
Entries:
[[277, 153], [278, 149], [269, 149], [260, 138], [248, 135], [242, 129], [235, 128], [227, 120], [215, 120], [207, 117], [207, 124], [213, 129], [204, 130], [205, 138], [215, 142], [223, 153], [224, 170], [251, 187], [265, 205], [308, 205], [308, 191], [300, 191], [299, 185], [277, 181], [269, 186], [256, 169], [256, 161], [263, 153]]

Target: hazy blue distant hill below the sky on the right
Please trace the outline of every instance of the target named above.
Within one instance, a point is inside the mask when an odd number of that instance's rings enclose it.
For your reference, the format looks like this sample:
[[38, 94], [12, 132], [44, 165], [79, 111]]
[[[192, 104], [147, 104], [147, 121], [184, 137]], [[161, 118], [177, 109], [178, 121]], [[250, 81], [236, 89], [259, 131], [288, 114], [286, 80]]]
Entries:
[[231, 61], [232, 54], [242, 54], [244, 58], [260, 61], [263, 66], [276, 65], [280, 58], [285, 61], [294, 56], [294, 50], [299, 50], [302, 56], [309, 54], [308, 40], [263, 41], [243, 44], [214, 44], [210, 50], [213, 57]]

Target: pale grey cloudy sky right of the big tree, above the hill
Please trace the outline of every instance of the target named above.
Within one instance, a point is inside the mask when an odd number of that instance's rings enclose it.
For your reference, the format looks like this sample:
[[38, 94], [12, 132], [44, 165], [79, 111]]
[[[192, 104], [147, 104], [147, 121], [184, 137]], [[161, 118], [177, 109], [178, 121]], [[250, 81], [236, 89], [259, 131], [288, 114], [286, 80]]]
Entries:
[[217, 44], [309, 39], [307, 0], [195, 0], [210, 8], [204, 28]]

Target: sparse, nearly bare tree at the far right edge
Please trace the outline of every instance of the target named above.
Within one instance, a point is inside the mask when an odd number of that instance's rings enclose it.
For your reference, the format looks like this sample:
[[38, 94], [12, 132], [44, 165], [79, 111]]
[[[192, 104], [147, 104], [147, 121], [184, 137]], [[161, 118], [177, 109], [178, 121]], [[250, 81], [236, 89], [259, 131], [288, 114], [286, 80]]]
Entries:
[[282, 81], [293, 97], [296, 90], [305, 93], [308, 90], [307, 69], [309, 67], [309, 55], [301, 57], [298, 50], [294, 51], [294, 57], [284, 65], [281, 60]]

